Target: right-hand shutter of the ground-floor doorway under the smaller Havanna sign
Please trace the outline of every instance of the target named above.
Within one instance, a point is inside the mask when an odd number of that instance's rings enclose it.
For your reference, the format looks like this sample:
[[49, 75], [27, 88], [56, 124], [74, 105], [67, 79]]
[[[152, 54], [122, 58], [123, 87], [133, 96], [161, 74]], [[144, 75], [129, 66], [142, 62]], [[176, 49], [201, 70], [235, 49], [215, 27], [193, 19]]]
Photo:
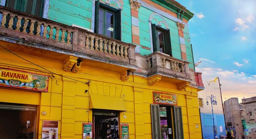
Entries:
[[184, 139], [181, 107], [175, 106], [174, 114], [175, 114], [175, 136], [176, 136], [176, 139]]

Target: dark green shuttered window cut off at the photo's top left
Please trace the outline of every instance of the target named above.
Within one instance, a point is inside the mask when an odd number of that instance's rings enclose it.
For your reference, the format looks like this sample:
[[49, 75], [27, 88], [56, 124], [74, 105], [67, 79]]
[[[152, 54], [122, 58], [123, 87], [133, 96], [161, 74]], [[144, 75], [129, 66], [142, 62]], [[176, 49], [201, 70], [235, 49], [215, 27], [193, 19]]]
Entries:
[[42, 17], [44, 0], [6, 0], [6, 7]]

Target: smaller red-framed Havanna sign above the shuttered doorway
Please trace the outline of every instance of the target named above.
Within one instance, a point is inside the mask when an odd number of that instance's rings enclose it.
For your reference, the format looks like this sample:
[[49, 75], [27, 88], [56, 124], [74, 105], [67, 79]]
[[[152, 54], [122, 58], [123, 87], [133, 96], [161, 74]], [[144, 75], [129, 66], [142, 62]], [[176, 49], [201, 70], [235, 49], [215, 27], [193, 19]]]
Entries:
[[153, 92], [153, 103], [177, 106], [177, 96], [169, 93]]

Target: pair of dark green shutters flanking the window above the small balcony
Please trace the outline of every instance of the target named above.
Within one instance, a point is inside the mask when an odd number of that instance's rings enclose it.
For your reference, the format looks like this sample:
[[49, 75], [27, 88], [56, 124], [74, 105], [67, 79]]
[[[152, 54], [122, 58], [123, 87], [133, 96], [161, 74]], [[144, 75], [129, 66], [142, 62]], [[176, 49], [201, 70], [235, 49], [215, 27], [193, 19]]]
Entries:
[[153, 45], [153, 52], [160, 51], [159, 50], [159, 44], [157, 42], [157, 30], [161, 30], [164, 32], [164, 52], [172, 56], [172, 46], [171, 46], [171, 35], [170, 35], [170, 30], [166, 30], [163, 28], [158, 27], [155, 24], [151, 24], [151, 33], [152, 33], [152, 45]]

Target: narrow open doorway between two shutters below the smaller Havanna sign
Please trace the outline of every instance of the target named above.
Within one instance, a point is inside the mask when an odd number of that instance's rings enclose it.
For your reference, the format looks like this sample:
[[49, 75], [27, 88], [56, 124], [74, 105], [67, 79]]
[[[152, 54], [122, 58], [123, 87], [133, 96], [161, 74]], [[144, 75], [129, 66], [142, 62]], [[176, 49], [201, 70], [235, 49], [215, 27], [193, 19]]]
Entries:
[[159, 111], [161, 139], [174, 139], [173, 107], [160, 106]]

